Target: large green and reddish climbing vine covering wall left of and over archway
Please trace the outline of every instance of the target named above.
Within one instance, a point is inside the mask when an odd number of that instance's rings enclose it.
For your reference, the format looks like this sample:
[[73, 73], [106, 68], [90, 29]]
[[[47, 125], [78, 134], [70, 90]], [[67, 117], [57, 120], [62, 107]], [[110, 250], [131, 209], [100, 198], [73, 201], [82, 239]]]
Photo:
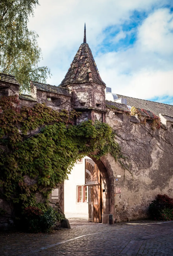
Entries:
[[72, 120], [80, 113], [74, 110], [19, 103], [17, 96], [0, 98], [0, 197], [18, 210], [39, 207], [36, 193], [48, 198], [67, 179], [76, 159], [90, 152], [97, 159], [107, 153], [120, 163], [124, 158], [108, 124], [86, 121], [75, 126]]

